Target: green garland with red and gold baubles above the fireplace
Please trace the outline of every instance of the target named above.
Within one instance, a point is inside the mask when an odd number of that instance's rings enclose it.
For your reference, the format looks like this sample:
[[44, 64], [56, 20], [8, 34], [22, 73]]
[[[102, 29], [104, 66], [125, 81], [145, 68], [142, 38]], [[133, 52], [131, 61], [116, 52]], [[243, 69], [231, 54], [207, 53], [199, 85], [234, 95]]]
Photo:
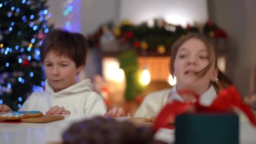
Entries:
[[101, 25], [93, 34], [88, 35], [89, 47], [100, 47], [101, 36], [109, 31], [115, 35], [117, 40], [129, 42], [134, 48], [143, 48], [158, 53], [165, 53], [166, 48], [170, 49], [177, 38], [191, 32], [201, 32], [214, 39], [227, 38], [227, 33], [211, 21], [194, 26], [187, 25], [184, 28], [180, 25], [168, 24], [162, 19], [155, 19], [151, 27], [146, 22], [134, 25], [130, 21], [124, 20], [121, 22], [110, 21]]

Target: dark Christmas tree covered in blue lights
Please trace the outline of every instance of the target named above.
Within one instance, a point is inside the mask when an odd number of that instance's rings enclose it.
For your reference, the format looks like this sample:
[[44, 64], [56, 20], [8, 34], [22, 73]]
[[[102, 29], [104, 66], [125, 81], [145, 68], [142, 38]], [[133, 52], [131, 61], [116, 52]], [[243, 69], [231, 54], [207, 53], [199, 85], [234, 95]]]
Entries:
[[45, 85], [39, 46], [52, 29], [47, 0], [0, 0], [0, 104], [18, 110]]

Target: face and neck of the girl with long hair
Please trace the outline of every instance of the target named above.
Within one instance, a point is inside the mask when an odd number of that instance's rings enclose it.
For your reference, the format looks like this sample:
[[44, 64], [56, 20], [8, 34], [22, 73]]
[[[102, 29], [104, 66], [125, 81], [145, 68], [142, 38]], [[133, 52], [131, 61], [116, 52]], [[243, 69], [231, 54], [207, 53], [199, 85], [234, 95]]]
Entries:
[[218, 75], [213, 63], [203, 77], [198, 77], [199, 72], [209, 64], [209, 53], [205, 44], [197, 39], [190, 38], [178, 49], [173, 73], [177, 78], [177, 89], [191, 89], [198, 94], [208, 90], [210, 81], [215, 81]]

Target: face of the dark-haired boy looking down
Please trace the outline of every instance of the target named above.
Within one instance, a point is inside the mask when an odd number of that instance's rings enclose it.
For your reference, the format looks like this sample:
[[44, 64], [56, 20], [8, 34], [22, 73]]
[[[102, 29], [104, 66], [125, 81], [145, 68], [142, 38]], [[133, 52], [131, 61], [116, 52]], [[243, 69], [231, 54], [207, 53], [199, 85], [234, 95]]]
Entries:
[[55, 92], [76, 84], [76, 75], [83, 66], [76, 67], [75, 62], [67, 56], [58, 56], [49, 51], [44, 60], [46, 79]]

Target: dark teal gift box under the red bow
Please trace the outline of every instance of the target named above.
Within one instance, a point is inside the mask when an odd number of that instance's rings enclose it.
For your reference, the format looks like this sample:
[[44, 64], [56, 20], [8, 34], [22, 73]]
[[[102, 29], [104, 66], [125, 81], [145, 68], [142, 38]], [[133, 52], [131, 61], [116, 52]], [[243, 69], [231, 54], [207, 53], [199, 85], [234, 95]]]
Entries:
[[239, 144], [235, 113], [182, 114], [175, 120], [175, 144]]

